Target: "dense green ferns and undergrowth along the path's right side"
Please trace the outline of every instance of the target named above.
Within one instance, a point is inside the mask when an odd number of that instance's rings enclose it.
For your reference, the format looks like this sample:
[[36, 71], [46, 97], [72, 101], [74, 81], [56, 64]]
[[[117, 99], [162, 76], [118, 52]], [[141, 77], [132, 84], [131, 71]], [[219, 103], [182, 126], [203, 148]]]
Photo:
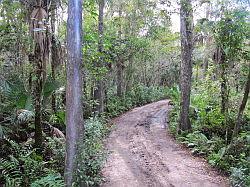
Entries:
[[[211, 83], [211, 84], [210, 84]], [[174, 103], [170, 114], [170, 131], [177, 141], [185, 144], [194, 155], [205, 157], [208, 163], [230, 176], [232, 186], [250, 186], [250, 116], [245, 112], [240, 134], [232, 139], [239, 100], [239, 94], [231, 93], [230, 112], [225, 116], [220, 112], [219, 88], [210, 82], [193, 89], [191, 95], [190, 119], [192, 131], [177, 133], [179, 123], [179, 90], [169, 92]]]

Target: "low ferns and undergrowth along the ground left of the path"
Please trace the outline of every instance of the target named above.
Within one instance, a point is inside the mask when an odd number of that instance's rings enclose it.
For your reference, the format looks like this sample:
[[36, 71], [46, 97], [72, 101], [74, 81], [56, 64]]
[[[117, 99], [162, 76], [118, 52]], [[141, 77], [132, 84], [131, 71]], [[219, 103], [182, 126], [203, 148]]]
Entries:
[[[87, 186], [96, 186], [102, 182], [99, 172], [106, 158], [103, 139], [110, 128], [108, 124], [110, 117], [117, 116], [132, 107], [163, 99], [166, 93], [165, 88], [143, 86], [133, 88], [124, 94], [123, 98], [109, 93], [107, 112], [100, 117], [88, 117], [85, 120], [85, 137], [80, 146], [80, 159], [77, 162], [80, 169], [76, 173], [76, 181], [85, 181]], [[9, 120], [0, 124], [0, 186], [63, 186], [65, 140], [62, 137], [54, 137], [51, 134], [51, 127], [56, 127], [59, 132], [65, 132], [64, 111], [52, 114], [51, 111], [44, 109], [44, 149], [42, 154], [37, 154], [33, 147], [32, 107], [31, 110], [15, 113], [19, 100], [11, 100], [6, 94], [5, 97], [5, 101], [8, 102], [5, 103], [4, 115], [5, 119]], [[15, 96], [11, 95], [11, 98], [13, 97]], [[25, 98], [28, 105], [28, 97]]]

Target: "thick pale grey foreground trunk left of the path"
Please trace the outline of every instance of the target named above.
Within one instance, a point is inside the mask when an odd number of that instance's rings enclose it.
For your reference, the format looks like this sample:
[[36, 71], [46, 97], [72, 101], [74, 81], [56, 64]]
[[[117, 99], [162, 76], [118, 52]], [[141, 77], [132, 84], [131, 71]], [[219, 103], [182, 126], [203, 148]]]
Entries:
[[82, 0], [69, 0], [67, 24], [66, 159], [65, 186], [72, 187], [77, 152], [83, 140], [82, 109]]

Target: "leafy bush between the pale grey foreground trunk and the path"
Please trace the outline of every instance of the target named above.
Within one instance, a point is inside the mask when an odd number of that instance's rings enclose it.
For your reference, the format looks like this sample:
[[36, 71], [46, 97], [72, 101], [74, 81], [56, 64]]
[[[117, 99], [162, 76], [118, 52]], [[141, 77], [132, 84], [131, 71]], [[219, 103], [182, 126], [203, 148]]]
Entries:
[[89, 119], [85, 125], [84, 142], [80, 145], [78, 155], [78, 171], [76, 173], [77, 186], [82, 182], [87, 186], [101, 183], [100, 170], [106, 159], [103, 138], [108, 128], [99, 119]]

